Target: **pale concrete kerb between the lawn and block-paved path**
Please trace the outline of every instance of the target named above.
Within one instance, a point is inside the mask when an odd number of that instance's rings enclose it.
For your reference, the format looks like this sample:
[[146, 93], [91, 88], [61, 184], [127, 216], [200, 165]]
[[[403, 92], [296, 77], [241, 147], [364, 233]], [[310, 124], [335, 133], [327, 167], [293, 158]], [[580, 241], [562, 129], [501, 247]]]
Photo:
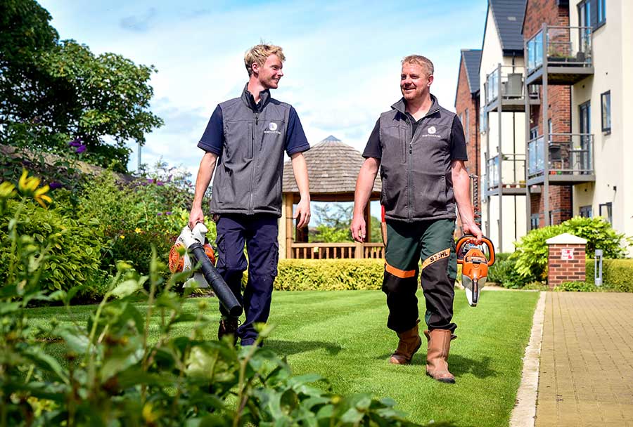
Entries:
[[511, 427], [533, 427], [539, 388], [539, 360], [543, 341], [546, 293], [541, 292], [532, 318], [532, 333], [523, 356], [523, 374], [516, 393], [516, 405], [510, 416]]

